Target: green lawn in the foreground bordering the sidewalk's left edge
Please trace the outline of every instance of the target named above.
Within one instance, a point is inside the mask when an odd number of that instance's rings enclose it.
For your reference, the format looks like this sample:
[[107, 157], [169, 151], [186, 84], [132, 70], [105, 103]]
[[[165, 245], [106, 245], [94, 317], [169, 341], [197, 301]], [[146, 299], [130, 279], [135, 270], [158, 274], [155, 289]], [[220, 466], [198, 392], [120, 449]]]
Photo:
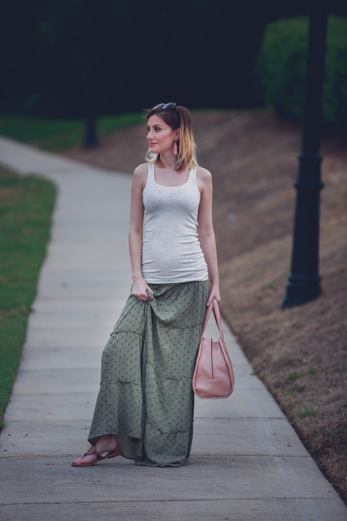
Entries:
[[0, 427], [16, 375], [56, 189], [0, 167]]

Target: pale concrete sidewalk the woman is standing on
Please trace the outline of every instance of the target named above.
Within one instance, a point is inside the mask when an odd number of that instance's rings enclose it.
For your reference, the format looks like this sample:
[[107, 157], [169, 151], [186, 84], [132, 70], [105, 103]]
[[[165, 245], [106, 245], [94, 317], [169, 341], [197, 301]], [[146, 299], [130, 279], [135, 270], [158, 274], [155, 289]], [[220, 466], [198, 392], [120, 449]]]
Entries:
[[[0, 442], [3, 521], [347, 519], [347, 509], [224, 324], [235, 390], [195, 399], [190, 464], [70, 466], [104, 345], [129, 295], [131, 177], [0, 139], [0, 162], [58, 186], [52, 238]], [[210, 320], [206, 336], [217, 336]]]

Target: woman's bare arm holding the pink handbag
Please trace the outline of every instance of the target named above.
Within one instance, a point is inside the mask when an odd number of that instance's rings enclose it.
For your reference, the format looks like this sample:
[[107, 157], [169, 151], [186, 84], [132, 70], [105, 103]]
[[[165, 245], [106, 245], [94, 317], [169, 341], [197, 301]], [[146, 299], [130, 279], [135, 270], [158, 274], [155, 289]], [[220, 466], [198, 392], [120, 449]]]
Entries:
[[219, 278], [214, 277], [214, 275], [218, 275], [218, 264], [215, 233], [212, 225], [212, 176], [205, 168], [198, 167], [196, 181], [201, 193], [199, 212], [197, 213], [199, 241], [211, 279], [211, 287], [206, 304], [209, 306], [213, 298], [220, 302]]

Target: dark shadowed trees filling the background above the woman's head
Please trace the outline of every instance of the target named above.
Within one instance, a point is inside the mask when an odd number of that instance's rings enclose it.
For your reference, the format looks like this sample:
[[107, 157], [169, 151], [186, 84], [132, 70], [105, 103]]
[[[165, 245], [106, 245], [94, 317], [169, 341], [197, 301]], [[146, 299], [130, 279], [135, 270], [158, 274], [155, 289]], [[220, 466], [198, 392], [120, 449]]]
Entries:
[[[307, 15], [312, 1], [4, 0], [0, 113], [259, 106], [252, 71], [266, 24]], [[329, 9], [347, 15], [345, 0]]]

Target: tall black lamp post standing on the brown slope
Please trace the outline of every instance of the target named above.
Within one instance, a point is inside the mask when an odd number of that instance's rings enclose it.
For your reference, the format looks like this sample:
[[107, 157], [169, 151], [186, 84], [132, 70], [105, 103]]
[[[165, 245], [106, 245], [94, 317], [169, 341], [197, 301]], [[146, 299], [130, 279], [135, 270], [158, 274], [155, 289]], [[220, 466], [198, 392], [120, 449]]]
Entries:
[[319, 155], [321, 105], [327, 34], [327, 0], [311, 1], [305, 85], [302, 153], [299, 156], [291, 273], [282, 309], [305, 304], [320, 294], [318, 274]]

